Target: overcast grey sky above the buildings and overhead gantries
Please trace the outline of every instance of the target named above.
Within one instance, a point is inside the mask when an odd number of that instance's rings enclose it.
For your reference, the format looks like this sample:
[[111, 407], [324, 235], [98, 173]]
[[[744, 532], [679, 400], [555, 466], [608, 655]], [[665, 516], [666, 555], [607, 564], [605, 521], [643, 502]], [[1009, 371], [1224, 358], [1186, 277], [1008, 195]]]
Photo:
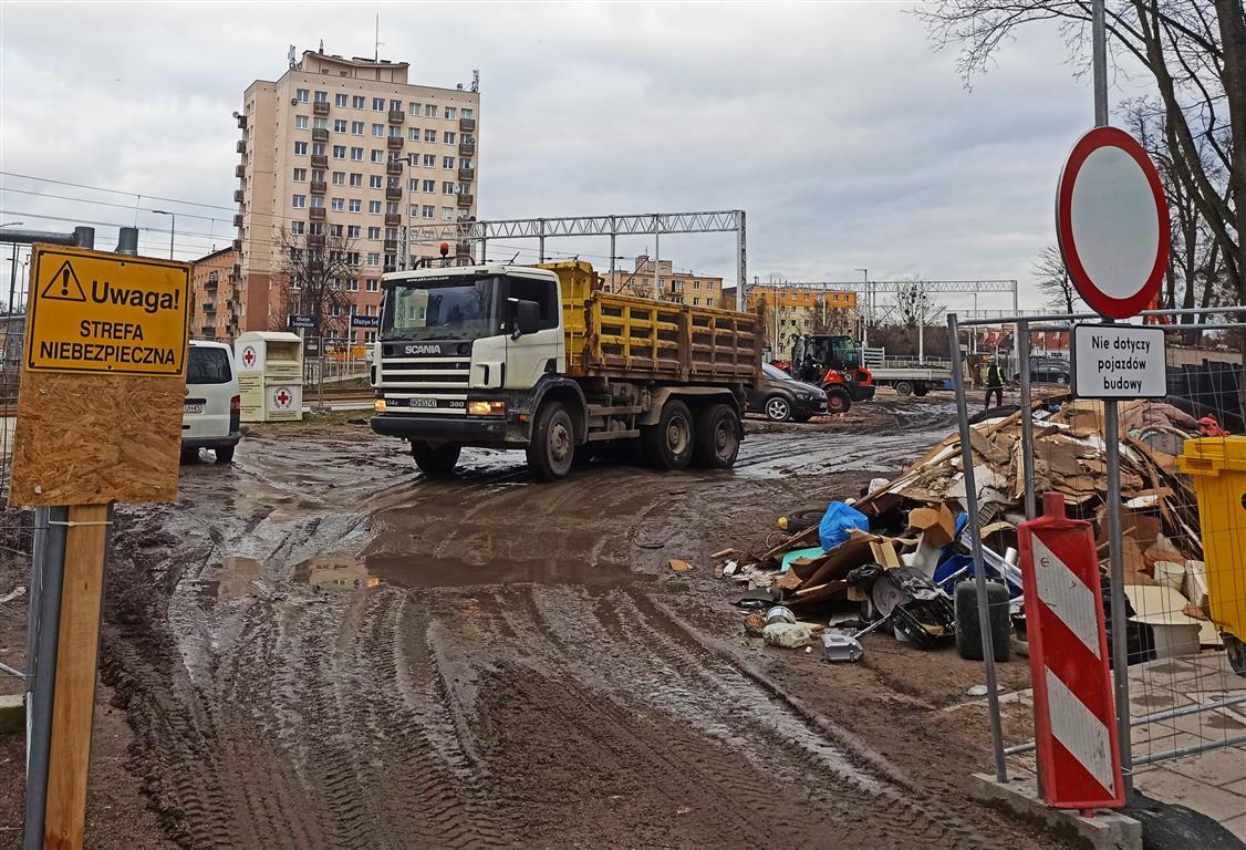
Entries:
[[[1091, 125], [1089, 84], [1033, 29], [968, 91], [913, 5], [5, 0], [0, 170], [130, 194], [5, 174], [0, 217], [137, 219], [142, 253], [163, 254], [168, 218], [145, 211], [171, 209], [181, 258], [223, 247], [243, 90], [280, 76], [292, 44], [370, 56], [379, 12], [380, 55], [410, 62], [412, 82], [480, 69], [482, 218], [740, 208], [750, 277], [1017, 278], [1037, 305], [1033, 263], [1055, 239], [1060, 165]], [[98, 231], [111, 248], [115, 229]], [[621, 239], [619, 253], [650, 247]], [[662, 243], [677, 268], [728, 278], [734, 248], [729, 234]], [[549, 249], [608, 263], [604, 238]]]

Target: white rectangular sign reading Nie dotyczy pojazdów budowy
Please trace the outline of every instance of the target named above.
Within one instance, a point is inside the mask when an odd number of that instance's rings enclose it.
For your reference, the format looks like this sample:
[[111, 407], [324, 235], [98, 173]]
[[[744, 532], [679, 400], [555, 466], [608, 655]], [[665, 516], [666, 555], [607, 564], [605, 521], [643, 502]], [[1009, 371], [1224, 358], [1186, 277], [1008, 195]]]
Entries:
[[1166, 396], [1164, 329], [1128, 324], [1074, 325], [1073, 393], [1082, 399]]

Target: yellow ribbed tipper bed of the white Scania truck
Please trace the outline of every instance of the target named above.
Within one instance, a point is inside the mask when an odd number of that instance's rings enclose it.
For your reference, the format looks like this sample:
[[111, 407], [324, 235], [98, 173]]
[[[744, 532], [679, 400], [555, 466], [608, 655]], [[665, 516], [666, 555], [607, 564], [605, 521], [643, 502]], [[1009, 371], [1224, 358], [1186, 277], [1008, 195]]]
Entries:
[[584, 262], [546, 263], [558, 275], [567, 329], [567, 374], [586, 378], [754, 384], [761, 320], [596, 289]]

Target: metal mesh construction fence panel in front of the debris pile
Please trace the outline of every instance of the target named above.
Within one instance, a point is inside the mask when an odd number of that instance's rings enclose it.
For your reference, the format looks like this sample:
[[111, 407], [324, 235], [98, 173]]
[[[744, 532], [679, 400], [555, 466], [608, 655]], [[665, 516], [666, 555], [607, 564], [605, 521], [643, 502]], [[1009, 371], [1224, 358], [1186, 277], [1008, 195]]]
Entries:
[[[996, 323], [1022, 340], [1019, 380], [1001, 405], [984, 409], [966, 369], [953, 369], [974, 580], [979, 591], [992, 578], [1009, 588], [997, 604], [1008, 606], [1022, 656], [1037, 617], [1027, 617], [1019, 571], [1009, 570], [1015, 526], [1040, 516], [1049, 492], [1069, 517], [1091, 523], [1126, 793], [1134, 781], [1145, 790], [1148, 771], [1165, 762], [1224, 750], [1246, 760], [1246, 327], [1237, 312], [1148, 319], [1165, 332], [1163, 399], [1105, 401], [1030, 380], [1032, 335], [1098, 323], [1091, 317]], [[948, 324], [953, 338], [963, 332], [954, 315]], [[979, 622], [992, 622], [984, 592], [978, 603]], [[1001, 690], [994, 656], [984, 652], [997, 776], [1037, 775], [1033, 693]], [[1062, 743], [1075, 749], [1094, 723], [1087, 710]]]

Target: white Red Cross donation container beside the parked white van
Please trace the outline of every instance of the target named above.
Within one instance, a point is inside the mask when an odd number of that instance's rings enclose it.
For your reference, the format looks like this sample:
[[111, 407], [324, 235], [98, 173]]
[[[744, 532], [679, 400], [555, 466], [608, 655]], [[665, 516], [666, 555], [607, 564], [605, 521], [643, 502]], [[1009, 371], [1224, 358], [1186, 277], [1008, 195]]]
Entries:
[[248, 330], [234, 340], [242, 421], [303, 419], [303, 340], [288, 332]]

